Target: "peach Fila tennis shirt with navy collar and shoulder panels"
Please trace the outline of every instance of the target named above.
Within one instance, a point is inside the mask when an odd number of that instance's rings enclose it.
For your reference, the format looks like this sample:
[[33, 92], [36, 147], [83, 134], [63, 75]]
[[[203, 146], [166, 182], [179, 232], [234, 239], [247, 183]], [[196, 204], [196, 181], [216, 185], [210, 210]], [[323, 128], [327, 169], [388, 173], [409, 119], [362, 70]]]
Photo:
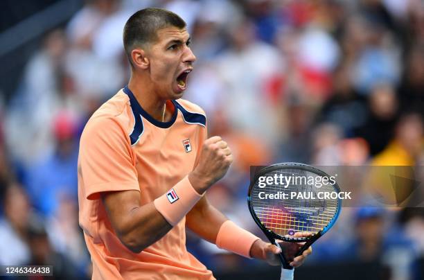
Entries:
[[139, 254], [109, 222], [103, 191], [140, 191], [148, 204], [193, 170], [206, 139], [206, 116], [187, 100], [169, 100], [170, 121], [156, 121], [127, 87], [89, 119], [80, 140], [80, 226], [93, 263], [92, 279], [214, 279], [186, 250], [186, 218]]

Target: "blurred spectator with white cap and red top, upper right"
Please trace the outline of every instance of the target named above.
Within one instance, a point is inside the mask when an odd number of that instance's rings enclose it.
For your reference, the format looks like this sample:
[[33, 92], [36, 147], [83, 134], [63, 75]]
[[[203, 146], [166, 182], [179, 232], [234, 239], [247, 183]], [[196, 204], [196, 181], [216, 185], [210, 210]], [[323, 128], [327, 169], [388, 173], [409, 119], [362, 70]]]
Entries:
[[339, 60], [333, 37], [319, 26], [287, 27], [276, 35], [276, 45], [283, 59], [283, 95], [296, 94], [308, 104], [321, 105], [330, 94], [330, 74]]

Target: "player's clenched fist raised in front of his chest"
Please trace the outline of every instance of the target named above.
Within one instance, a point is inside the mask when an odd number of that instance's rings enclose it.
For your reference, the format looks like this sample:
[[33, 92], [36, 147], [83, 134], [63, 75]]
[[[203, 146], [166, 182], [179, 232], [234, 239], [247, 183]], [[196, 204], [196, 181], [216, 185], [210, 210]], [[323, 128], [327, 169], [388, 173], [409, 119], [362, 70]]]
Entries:
[[199, 163], [188, 174], [188, 180], [193, 188], [202, 194], [224, 177], [232, 162], [233, 155], [231, 155], [227, 142], [219, 136], [206, 139], [200, 153]]

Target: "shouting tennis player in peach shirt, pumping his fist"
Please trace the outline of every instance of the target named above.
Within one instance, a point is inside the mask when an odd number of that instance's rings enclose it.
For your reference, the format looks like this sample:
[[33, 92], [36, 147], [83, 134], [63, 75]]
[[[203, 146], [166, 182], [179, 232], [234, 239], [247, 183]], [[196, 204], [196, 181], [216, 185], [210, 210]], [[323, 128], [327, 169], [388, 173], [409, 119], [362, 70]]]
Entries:
[[220, 248], [279, 265], [279, 248], [204, 197], [233, 156], [220, 137], [206, 139], [203, 110], [181, 99], [196, 59], [185, 22], [167, 10], [139, 10], [123, 43], [130, 82], [91, 116], [80, 141], [79, 218], [92, 278], [214, 279], [187, 252], [186, 227]]

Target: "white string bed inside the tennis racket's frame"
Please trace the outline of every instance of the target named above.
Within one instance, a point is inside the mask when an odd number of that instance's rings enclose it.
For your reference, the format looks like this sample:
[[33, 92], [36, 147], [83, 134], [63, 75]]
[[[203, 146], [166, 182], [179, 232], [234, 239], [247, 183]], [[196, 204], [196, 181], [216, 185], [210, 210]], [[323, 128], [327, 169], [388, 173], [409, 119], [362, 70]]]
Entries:
[[[264, 176], [292, 177], [296, 184], [284, 187], [281, 184], [269, 184], [260, 188], [258, 182], [254, 185], [251, 193], [251, 204], [260, 222], [268, 229], [280, 236], [292, 236], [297, 231], [317, 233], [324, 229], [335, 218], [338, 209], [337, 199], [319, 199], [317, 193], [335, 191], [335, 186], [322, 184], [308, 184], [306, 178], [314, 178], [312, 182], [318, 182], [315, 173], [298, 170], [283, 169], [274, 170]], [[321, 178], [320, 178], [321, 179]], [[296, 181], [295, 181], [296, 180]], [[322, 181], [319, 181], [322, 182]], [[260, 199], [259, 193], [272, 195], [286, 193], [287, 199]], [[291, 198], [291, 193], [301, 193], [297, 198]], [[313, 195], [314, 199], [311, 199]]]

